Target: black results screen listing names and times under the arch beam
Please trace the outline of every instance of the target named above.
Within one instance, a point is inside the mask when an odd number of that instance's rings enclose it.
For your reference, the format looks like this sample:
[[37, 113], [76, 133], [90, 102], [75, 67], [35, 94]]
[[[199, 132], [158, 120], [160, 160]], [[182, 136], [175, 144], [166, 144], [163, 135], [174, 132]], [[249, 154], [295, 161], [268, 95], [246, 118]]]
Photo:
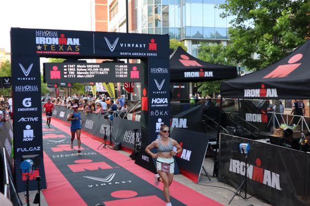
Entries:
[[141, 82], [142, 64], [126, 63], [44, 63], [48, 83]]

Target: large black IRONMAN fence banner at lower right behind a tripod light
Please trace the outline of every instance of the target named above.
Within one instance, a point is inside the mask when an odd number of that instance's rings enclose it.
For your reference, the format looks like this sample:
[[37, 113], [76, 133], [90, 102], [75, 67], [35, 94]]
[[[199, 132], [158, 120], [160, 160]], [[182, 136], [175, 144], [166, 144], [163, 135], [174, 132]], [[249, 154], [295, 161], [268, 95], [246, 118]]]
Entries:
[[[220, 136], [219, 180], [238, 188], [245, 175], [245, 158], [240, 143], [250, 144], [247, 157], [248, 183], [271, 204], [308, 205], [310, 154], [277, 145], [222, 134]], [[308, 191], [308, 192], [306, 192]], [[247, 193], [260, 197], [248, 185]]]

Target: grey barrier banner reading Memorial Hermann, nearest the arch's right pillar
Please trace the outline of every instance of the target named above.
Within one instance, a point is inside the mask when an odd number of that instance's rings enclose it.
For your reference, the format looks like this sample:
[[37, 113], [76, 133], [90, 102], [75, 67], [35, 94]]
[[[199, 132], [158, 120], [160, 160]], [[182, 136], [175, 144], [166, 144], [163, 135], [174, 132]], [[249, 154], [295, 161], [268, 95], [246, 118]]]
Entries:
[[114, 118], [113, 119], [113, 125], [119, 125], [114, 126], [114, 128], [117, 128], [118, 132], [116, 135], [117, 142], [121, 143], [121, 146], [134, 149], [134, 131], [133, 129], [139, 129], [137, 132], [137, 139], [136, 142], [139, 142], [141, 146], [141, 123], [135, 122], [131, 120], [125, 120], [125, 119], [119, 119]]

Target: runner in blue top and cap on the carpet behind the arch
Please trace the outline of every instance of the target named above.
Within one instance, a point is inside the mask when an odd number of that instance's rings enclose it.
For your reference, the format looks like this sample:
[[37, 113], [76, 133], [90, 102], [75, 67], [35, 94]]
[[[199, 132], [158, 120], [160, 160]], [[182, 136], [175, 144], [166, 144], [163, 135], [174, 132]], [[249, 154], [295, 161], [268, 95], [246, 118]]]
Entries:
[[[71, 121], [71, 149], [73, 149], [73, 140], [75, 139], [75, 133], [76, 133], [76, 139], [77, 139], [77, 153], [81, 153], [81, 113], [77, 111], [79, 106], [77, 104], [73, 104], [73, 111], [70, 113], [67, 121]], [[84, 120], [82, 120], [84, 121]]]

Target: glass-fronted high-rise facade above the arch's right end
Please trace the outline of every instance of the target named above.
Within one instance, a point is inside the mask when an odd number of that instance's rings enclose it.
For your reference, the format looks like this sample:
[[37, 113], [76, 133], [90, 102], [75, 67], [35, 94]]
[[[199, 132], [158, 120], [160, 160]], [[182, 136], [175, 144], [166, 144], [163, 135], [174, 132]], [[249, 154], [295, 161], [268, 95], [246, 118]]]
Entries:
[[[135, 0], [135, 33], [169, 34], [171, 39], [228, 40], [230, 18], [215, 8], [225, 0]], [[198, 47], [197, 47], [198, 48]]]

